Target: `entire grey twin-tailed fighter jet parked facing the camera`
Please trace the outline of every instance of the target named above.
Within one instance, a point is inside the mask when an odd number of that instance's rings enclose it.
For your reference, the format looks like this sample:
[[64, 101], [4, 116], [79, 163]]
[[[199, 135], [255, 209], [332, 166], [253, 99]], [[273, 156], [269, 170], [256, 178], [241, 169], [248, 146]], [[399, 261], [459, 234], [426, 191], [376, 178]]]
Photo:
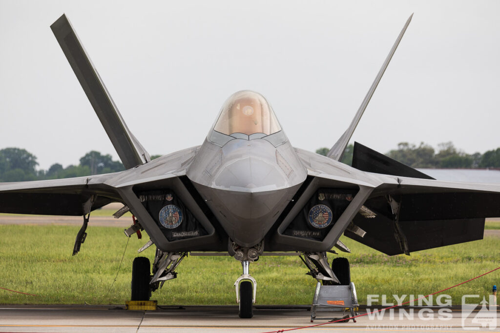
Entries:
[[242, 266], [234, 284], [241, 318], [252, 317], [249, 265], [260, 256], [297, 255], [318, 282], [348, 285], [347, 259], [330, 265], [326, 256], [349, 252], [342, 234], [387, 255], [482, 239], [484, 218], [500, 216], [500, 185], [438, 181], [358, 143], [352, 165], [340, 162], [410, 20], [327, 156], [294, 148], [267, 100], [244, 90], [223, 103], [200, 146], [151, 160], [62, 15], [51, 29], [126, 170], [1, 183], [0, 212], [83, 216], [75, 255], [91, 212], [122, 203], [115, 217], [133, 214], [125, 234], [150, 238], [138, 252], [156, 248], [152, 265], [133, 261], [132, 300], [177, 278], [188, 254], [230, 255]]

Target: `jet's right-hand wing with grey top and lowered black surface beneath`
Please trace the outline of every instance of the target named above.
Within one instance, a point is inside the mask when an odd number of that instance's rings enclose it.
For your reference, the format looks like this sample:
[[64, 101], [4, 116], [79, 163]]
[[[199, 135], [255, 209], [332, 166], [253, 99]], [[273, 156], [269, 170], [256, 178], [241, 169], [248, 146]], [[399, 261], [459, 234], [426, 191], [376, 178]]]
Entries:
[[314, 197], [320, 197], [318, 193], [358, 188], [352, 200], [360, 198], [356, 211], [337, 221], [341, 225], [334, 225], [337, 230], [324, 238], [328, 245], [335, 244], [343, 232], [385, 254], [409, 254], [482, 239], [485, 218], [500, 217], [500, 184], [364, 172], [302, 150], [297, 153], [312, 178], [310, 184], [316, 184], [309, 185], [312, 205], [321, 204]]

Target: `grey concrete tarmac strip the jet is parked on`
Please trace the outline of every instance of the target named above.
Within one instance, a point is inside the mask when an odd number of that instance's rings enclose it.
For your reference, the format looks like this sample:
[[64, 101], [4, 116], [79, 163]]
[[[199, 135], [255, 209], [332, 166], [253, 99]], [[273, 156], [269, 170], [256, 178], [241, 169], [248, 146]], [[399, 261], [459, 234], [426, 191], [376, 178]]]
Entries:
[[[500, 332], [497, 310], [463, 313], [460, 309], [405, 308], [387, 310], [372, 318], [359, 317], [356, 323], [316, 319], [312, 324], [307, 306], [255, 307], [252, 319], [239, 319], [237, 313], [236, 306], [164, 306], [156, 311], [127, 311], [122, 306], [3, 305], [0, 332]], [[305, 328], [318, 324], [324, 325]]]

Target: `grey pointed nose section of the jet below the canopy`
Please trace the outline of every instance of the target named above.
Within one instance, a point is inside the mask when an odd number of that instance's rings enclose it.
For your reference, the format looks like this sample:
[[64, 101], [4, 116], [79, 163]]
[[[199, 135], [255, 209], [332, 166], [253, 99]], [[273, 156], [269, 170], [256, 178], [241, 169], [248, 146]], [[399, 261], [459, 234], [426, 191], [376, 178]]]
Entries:
[[239, 246], [261, 241], [307, 173], [288, 141], [231, 139], [201, 145], [187, 177]]

